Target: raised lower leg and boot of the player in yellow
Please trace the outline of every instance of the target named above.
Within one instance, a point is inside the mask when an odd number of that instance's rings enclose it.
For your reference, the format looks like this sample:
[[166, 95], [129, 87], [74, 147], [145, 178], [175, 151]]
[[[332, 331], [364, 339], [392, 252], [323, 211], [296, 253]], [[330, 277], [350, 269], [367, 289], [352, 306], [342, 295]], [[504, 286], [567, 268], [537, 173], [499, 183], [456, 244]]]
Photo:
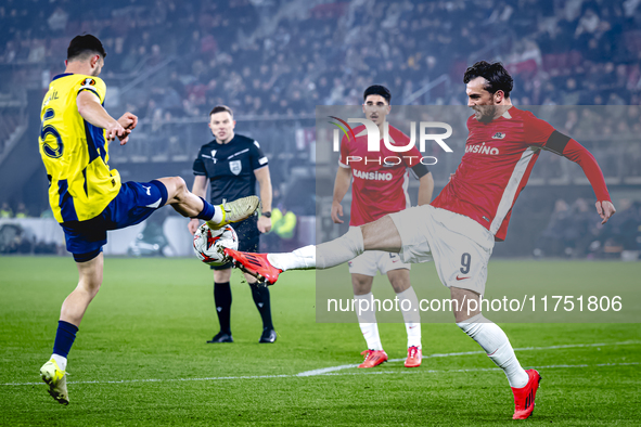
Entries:
[[256, 196], [214, 206], [203, 197], [191, 193], [180, 177], [161, 178], [157, 181], [167, 189], [167, 205], [183, 217], [205, 220], [210, 229], [220, 229], [229, 223], [247, 219], [260, 206], [260, 199]]

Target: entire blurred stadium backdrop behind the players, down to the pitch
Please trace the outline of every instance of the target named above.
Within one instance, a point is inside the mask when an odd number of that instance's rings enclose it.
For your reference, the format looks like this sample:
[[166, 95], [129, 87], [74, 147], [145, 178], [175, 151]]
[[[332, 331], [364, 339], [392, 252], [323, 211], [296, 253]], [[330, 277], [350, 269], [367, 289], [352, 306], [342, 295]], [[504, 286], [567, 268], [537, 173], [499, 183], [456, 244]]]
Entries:
[[[496, 254], [638, 259], [640, 3], [4, 0], [0, 253], [66, 254], [60, 228], [35, 219], [49, 215], [39, 113], [51, 78], [64, 70], [69, 40], [89, 33], [107, 51], [101, 75], [105, 107], [113, 116], [129, 111], [141, 119], [129, 144], [111, 147], [112, 168], [123, 180], [177, 174], [191, 186], [197, 150], [213, 139], [207, 115], [217, 104], [229, 105], [236, 132], [258, 140], [269, 157], [274, 206], [296, 217], [282, 236], [264, 238], [264, 249], [322, 241], [343, 230], [315, 236], [331, 197], [315, 185], [333, 182], [335, 168], [333, 160], [317, 158], [317, 105], [359, 105], [363, 89], [380, 83], [390, 89], [392, 104], [461, 106], [463, 72], [486, 60], [502, 61], [512, 73], [515, 105], [547, 106], [541, 118], [595, 155], [618, 209], [608, 227], [600, 227], [580, 168], [543, 153]], [[463, 154], [464, 139], [452, 144], [456, 159], [432, 168], [435, 194]], [[414, 197], [415, 187], [418, 181], [410, 187]], [[348, 208], [349, 198], [343, 205]], [[131, 230], [105, 251], [189, 251], [189, 238], [171, 236], [183, 228], [181, 219], [167, 209], [152, 221], [155, 227]]]

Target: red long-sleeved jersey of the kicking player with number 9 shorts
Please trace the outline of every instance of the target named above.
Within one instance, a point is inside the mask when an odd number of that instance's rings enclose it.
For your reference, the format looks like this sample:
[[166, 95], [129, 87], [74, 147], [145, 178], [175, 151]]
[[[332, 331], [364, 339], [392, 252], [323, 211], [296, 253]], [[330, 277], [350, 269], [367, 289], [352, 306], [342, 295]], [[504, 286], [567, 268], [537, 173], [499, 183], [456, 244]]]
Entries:
[[[461, 164], [432, 205], [472, 218], [489, 230], [497, 241], [505, 240], [512, 207], [525, 187], [541, 148], [564, 154], [579, 164], [585, 160], [581, 167], [598, 197], [610, 199], [601, 170], [598, 166], [592, 167], [597, 164], [587, 150], [555, 132], [551, 125], [530, 112], [511, 107], [490, 122], [471, 116], [467, 129], [470, 135]], [[572, 144], [567, 147], [559, 145], [563, 138]]]

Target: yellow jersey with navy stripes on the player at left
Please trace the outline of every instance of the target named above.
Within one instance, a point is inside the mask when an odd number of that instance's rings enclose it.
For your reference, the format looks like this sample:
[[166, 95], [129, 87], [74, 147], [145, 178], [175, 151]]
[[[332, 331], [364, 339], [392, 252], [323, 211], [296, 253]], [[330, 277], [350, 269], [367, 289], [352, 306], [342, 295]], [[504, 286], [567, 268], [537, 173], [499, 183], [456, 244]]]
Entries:
[[105, 130], [86, 121], [76, 98], [89, 90], [104, 103], [102, 79], [61, 74], [49, 85], [40, 112], [40, 156], [49, 178], [49, 204], [59, 222], [100, 215], [120, 191], [120, 176], [107, 166]]

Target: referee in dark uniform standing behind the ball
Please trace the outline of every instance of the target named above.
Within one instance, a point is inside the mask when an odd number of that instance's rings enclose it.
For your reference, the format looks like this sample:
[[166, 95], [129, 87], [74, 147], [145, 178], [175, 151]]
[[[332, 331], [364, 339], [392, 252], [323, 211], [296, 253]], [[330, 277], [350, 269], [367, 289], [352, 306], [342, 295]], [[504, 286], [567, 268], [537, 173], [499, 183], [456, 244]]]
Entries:
[[[255, 140], [235, 134], [233, 112], [218, 105], [209, 113], [209, 129], [214, 141], [201, 147], [194, 160], [194, 185], [192, 192], [205, 197], [207, 180], [211, 185], [210, 202], [215, 205], [256, 194], [256, 181], [260, 185], [262, 215], [233, 224], [239, 235], [239, 250], [257, 253], [260, 233], [271, 230], [271, 179], [267, 157]], [[200, 222], [192, 219], [189, 231], [193, 234]], [[214, 269], [214, 301], [220, 323], [220, 332], [207, 342], [233, 342], [231, 336], [231, 262]], [[260, 286], [254, 276], [245, 274], [252, 288], [252, 297], [262, 319], [262, 335], [258, 342], [273, 342], [277, 335], [271, 322], [269, 288]]]

